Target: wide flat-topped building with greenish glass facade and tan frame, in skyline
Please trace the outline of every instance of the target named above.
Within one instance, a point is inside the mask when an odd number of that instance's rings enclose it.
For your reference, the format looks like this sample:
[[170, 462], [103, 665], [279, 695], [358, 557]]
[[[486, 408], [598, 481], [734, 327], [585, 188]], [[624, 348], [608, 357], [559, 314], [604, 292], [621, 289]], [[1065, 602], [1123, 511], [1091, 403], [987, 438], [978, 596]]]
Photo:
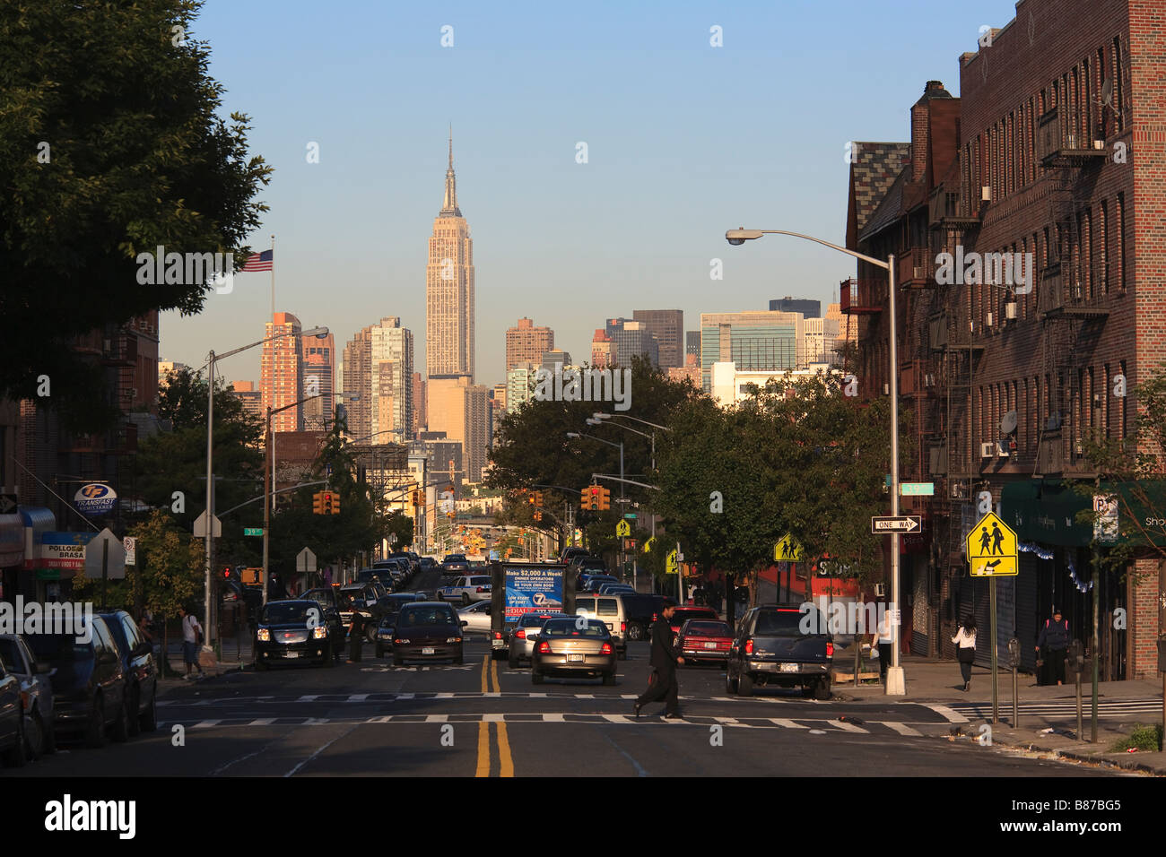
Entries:
[[798, 367], [806, 328], [800, 312], [747, 310], [701, 314], [701, 384], [711, 391], [712, 364], [732, 361], [743, 372]]

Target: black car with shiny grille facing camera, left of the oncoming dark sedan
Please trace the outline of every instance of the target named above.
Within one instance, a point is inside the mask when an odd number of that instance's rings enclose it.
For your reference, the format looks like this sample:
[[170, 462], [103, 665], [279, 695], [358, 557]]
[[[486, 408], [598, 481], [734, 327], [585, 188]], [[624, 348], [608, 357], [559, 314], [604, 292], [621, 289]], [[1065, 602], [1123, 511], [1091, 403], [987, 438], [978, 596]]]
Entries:
[[344, 652], [339, 617], [309, 598], [268, 602], [255, 628], [255, 669], [273, 662], [318, 659], [335, 666]]

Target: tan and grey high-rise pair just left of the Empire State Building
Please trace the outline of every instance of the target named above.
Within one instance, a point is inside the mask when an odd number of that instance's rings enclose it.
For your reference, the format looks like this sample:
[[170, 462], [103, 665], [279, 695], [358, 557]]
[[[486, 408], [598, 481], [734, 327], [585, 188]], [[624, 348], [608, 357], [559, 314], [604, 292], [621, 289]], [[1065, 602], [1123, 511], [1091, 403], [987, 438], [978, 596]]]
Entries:
[[413, 331], [398, 316], [359, 330], [344, 346], [349, 434], [375, 443], [412, 436], [413, 375]]

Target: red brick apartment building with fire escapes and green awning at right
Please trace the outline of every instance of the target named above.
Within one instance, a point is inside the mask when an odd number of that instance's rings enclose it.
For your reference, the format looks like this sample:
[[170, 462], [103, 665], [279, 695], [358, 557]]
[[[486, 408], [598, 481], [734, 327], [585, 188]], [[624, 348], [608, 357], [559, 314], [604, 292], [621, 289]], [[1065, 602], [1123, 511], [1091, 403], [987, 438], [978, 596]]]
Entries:
[[[925, 515], [904, 546], [904, 621], [925, 655], [951, 655], [968, 613], [988, 627], [988, 581], [962, 555], [988, 492], [1020, 542], [1019, 575], [997, 591], [1002, 639], [1021, 641], [1025, 667], [1054, 605], [1088, 644], [1096, 595], [1103, 677], [1152, 677], [1157, 560], [1101, 575], [1095, 593], [1093, 527], [1075, 518], [1089, 501], [1067, 480], [1097, 476], [1083, 437], [1128, 436], [1138, 403], [1115, 393], [1118, 377], [1132, 392], [1166, 356], [1166, 9], [1016, 8], [960, 57], [961, 98], [927, 83], [909, 143], [855, 143], [847, 244], [895, 257], [899, 391], [913, 413], [902, 479], [935, 483], [934, 497], [904, 498]], [[964, 266], [972, 253], [1032, 254], [1035, 271], [1011, 288], [964, 285], [941, 253]], [[884, 395], [886, 272], [859, 262], [841, 297], [858, 324], [863, 395]]]

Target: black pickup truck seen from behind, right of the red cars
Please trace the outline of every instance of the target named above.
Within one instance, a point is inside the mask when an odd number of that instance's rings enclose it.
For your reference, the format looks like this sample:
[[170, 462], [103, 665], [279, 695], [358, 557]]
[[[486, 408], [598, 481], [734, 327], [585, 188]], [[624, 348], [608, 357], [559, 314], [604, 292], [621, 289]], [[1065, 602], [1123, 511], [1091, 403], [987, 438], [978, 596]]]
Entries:
[[[791, 604], [753, 607], [742, 617], [725, 667], [729, 693], [750, 696], [758, 684], [778, 684], [801, 687], [803, 696], [830, 698], [834, 641], [830, 634], [802, 633], [802, 614], [800, 605]], [[816, 624], [810, 627], [826, 627], [821, 613], [813, 618]]]

